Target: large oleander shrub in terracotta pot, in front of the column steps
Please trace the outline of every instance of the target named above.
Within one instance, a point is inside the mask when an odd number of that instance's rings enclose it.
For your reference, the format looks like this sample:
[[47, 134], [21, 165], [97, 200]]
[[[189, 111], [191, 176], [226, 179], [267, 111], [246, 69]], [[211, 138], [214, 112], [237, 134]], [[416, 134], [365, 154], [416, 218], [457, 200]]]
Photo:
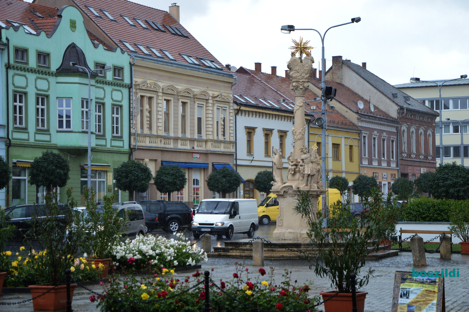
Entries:
[[[309, 191], [299, 190], [298, 204], [295, 211], [306, 219], [309, 225], [308, 236], [316, 249], [316, 257], [309, 259], [314, 272], [319, 277], [327, 277], [331, 281], [334, 290], [322, 292], [323, 299], [339, 294], [325, 302], [325, 312], [351, 311], [352, 297], [350, 274], [355, 273], [357, 289], [368, 284], [371, 268], [360, 274], [365, 265], [366, 257], [379, 247], [379, 238], [390, 228], [395, 216], [392, 213], [384, 213], [382, 194], [378, 189], [371, 189], [371, 198], [364, 196], [365, 205], [370, 209], [364, 213], [362, 222], [352, 218], [347, 200], [345, 204], [336, 202], [332, 205], [335, 212], [329, 216], [328, 228], [322, 228], [324, 217], [321, 213], [314, 213], [311, 195]], [[363, 312], [365, 297], [368, 293], [356, 292], [358, 312]]]

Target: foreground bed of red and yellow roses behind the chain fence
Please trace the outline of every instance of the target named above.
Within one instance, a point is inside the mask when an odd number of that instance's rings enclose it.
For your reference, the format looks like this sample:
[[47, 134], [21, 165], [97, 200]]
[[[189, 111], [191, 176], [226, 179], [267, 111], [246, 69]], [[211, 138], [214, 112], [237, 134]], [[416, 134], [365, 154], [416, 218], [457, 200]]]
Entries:
[[[252, 274], [248, 268], [236, 263], [231, 281], [221, 279], [216, 281], [219, 288], [214, 281], [210, 283], [210, 311], [257, 312], [255, 308], [268, 311], [293, 311], [305, 309], [319, 302], [318, 296], [309, 297], [310, 284], [299, 285], [296, 281], [292, 282], [287, 270], [282, 274], [283, 281], [276, 283], [273, 273], [274, 269], [271, 267], [269, 273], [260, 268], [258, 273]], [[211, 277], [214, 278], [213, 272]], [[198, 282], [202, 282], [203, 278], [204, 275], [198, 270], [192, 274], [192, 277], [179, 277], [174, 274], [174, 270], [168, 269], [138, 280], [131, 275], [114, 275], [109, 283], [102, 283], [105, 297], [91, 296], [90, 301], [98, 300], [98, 307], [103, 312], [204, 311], [204, 285], [192, 288]], [[114, 301], [109, 298], [133, 302]], [[153, 301], [159, 299], [166, 300]], [[315, 309], [305, 311], [313, 312]]]

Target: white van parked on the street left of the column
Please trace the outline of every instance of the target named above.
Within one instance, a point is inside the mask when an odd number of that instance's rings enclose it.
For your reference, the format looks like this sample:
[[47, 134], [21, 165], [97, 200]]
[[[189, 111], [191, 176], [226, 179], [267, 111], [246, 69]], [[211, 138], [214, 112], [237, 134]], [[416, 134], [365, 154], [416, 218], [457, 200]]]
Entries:
[[195, 239], [202, 233], [231, 239], [234, 233], [253, 237], [258, 228], [256, 199], [217, 198], [200, 202], [191, 229]]

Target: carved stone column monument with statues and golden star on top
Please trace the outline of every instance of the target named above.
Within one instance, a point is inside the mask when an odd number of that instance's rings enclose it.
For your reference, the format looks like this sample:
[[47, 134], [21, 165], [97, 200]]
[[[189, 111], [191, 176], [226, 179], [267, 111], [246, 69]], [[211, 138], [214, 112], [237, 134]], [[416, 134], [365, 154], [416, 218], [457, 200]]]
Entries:
[[[300, 40], [300, 42], [302, 41]], [[295, 42], [295, 44], [297, 43]], [[304, 106], [306, 105], [304, 94], [308, 88], [314, 59], [309, 52], [305, 53], [304, 50], [298, 48], [296, 50], [300, 52], [300, 57], [295, 57], [295, 53], [292, 53], [287, 65], [291, 81], [290, 89], [295, 93], [295, 125], [292, 129], [293, 150], [290, 152], [290, 156], [287, 157], [287, 183], [279, 185], [280, 183], [277, 180], [276, 183], [273, 183], [271, 190], [272, 193], [277, 195], [279, 201], [279, 216], [277, 217], [277, 228], [273, 232], [273, 238], [308, 243], [306, 220], [302, 219], [301, 215], [296, 214], [294, 210], [297, 204], [298, 190], [310, 191], [313, 207], [318, 206], [318, 198], [326, 190], [322, 188], [321, 159], [318, 156], [318, 148], [316, 146], [311, 148], [305, 146], [307, 125], [304, 116]], [[302, 58], [303, 53], [306, 54], [304, 58]], [[315, 209], [317, 210], [317, 208]]]

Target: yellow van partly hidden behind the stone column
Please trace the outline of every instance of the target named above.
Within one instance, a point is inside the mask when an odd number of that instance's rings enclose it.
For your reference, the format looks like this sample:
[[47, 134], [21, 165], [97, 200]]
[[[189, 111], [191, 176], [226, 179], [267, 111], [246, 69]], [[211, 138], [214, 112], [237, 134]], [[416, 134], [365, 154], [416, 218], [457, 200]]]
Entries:
[[[332, 205], [336, 201], [340, 200], [340, 190], [328, 189], [327, 190], [327, 203]], [[318, 200], [318, 207], [321, 205], [322, 197]], [[321, 209], [318, 209], [321, 211]], [[279, 202], [277, 195], [270, 193], [264, 200], [257, 206], [257, 215], [259, 217], [259, 225], [267, 225], [271, 221], [277, 221], [279, 215]]]

